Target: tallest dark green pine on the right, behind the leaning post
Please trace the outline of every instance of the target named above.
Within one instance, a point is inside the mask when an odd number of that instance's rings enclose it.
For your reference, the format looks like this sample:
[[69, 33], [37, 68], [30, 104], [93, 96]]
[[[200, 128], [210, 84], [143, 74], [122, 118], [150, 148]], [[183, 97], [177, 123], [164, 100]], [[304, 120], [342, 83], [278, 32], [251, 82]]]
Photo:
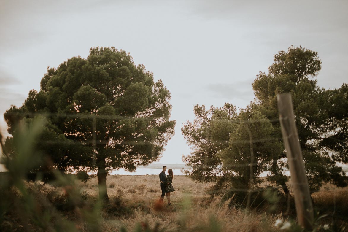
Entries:
[[[347, 186], [345, 172], [336, 162], [348, 161], [348, 85], [333, 90], [319, 88], [313, 78], [321, 70], [321, 61], [317, 52], [301, 46], [280, 51], [274, 60], [269, 73], [260, 73], [252, 83], [260, 111], [273, 120], [278, 132], [274, 139], [282, 139], [280, 124], [274, 120], [278, 113], [276, 96], [290, 92], [311, 192], [318, 191], [324, 182]], [[285, 157], [284, 152], [281, 157]], [[276, 168], [272, 170], [274, 174]], [[285, 179], [274, 180], [285, 183]]]

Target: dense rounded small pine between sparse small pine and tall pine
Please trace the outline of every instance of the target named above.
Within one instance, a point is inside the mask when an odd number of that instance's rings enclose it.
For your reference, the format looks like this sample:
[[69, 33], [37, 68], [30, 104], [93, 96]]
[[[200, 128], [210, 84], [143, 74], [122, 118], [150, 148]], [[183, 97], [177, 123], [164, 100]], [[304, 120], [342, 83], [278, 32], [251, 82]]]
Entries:
[[[230, 183], [240, 195], [258, 189], [259, 175], [269, 170], [281, 144], [272, 137], [271, 122], [251, 104], [241, 109], [229, 133], [228, 147], [219, 153], [223, 167], [231, 171]], [[243, 198], [242, 198], [243, 199]]]

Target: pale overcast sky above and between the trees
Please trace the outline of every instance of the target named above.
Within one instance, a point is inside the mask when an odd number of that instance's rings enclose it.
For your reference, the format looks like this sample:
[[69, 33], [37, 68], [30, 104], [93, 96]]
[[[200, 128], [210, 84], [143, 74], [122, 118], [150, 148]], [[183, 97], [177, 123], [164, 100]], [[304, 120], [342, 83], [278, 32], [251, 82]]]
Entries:
[[124, 49], [172, 94], [175, 136], [162, 163], [190, 152], [180, 128], [193, 105], [245, 107], [252, 81], [291, 45], [322, 60], [318, 85], [348, 82], [348, 1], [0, 0], [0, 129], [3, 113], [39, 90], [47, 66], [94, 46]]

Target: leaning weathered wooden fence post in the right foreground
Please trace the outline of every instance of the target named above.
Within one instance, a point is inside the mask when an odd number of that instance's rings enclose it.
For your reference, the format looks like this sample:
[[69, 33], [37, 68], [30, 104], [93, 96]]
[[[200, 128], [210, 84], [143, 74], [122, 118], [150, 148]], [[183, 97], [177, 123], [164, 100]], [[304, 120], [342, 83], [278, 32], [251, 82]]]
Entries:
[[313, 206], [306, 171], [304, 170], [291, 95], [289, 93], [278, 94], [277, 102], [280, 126], [282, 128], [283, 141], [291, 173], [291, 183], [294, 190], [298, 222], [299, 225], [310, 230], [314, 222]]

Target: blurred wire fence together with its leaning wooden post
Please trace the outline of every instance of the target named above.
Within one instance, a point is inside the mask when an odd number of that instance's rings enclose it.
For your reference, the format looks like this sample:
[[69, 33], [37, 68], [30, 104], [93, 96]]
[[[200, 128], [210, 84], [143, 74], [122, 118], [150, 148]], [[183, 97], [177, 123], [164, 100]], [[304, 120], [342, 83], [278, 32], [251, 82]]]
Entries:
[[[292, 107], [291, 106], [286, 106], [286, 109], [290, 109]], [[292, 108], [291, 108], [291, 112], [292, 112]], [[18, 115], [12, 115], [13, 117], [17, 117]], [[22, 115], [23, 117], [23, 115]], [[28, 113], [26, 114], [24, 117], [27, 118], [35, 118], [35, 117], [41, 117], [41, 118], [55, 118], [55, 119], [60, 119], [60, 120], [65, 120], [65, 123], [73, 123], [73, 121], [75, 120], [80, 120], [83, 119], [83, 122], [79, 122], [81, 126], [85, 126], [87, 128], [89, 128], [90, 130], [86, 130], [85, 133], [88, 134], [86, 139], [83, 140], [79, 140], [79, 141], [70, 141], [72, 143], [83, 143], [85, 145], [89, 145], [94, 147], [94, 152], [93, 152], [93, 160], [94, 163], [93, 165], [95, 165], [95, 156], [97, 156], [97, 152], [96, 152], [96, 146], [97, 145], [112, 145], [114, 144], [118, 144], [118, 145], [148, 145], [148, 146], [153, 146], [156, 143], [156, 139], [155, 138], [151, 138], [148, 141], [139, 141], [139, 140], [132, 140], [130, 138], [127, 139], [101, 139], [103, 138], [103, 136], [101, 135], [100, 131], [97, 131], [97, 123], [101, 122], [101, 121], [109, 121], [111, 123], [119, 123], [122, 124], [122, 122], [124, 121], [130, 121], [132, 123], [137, 123], [137, 122], [144, 122], [147, 121], [148, 123], [153, 122], [154, 120], [158, 120], [155, 119], [153, 117], [146, 117], [146, 116], [142, 116], [142, 115], [137, 115], [136, 117], [127, 117], [127, 116], [121, 116], [121, 115], [96, 115], [96, 114], [84, 114], [84, 113], [71, 113], [71, 114], [53, 114], [53, 113]], [[217, 121], [219, 121], [219, 119], [216, 119]], [[222, 119], [221, 119], [222, 120]], [[222, 121], [226, 121], [226, 119], [223, 119]], [[243, 124], [250, 124], [250, 123], [255, 123], [255, 122], [261, 122], [263, 120], [238, 120], [238, 121], [233, 121], [231, 123], [237, 123], [238, 125], [243, 125]], [[204, 141], [205, 144], [207, 145], [211, 145], [211, 144], [224, 144], [224, 145], [228, 145], [228, 146], [234, 146], [234, 145], [240, 145], [240, 144], [246, 144], [248, 145], [248, 155], [246, 155], [246, 159], [244, 162], [236, 162], [236, 163], [215, 163], [212, 165], [207, 165], [207, 164], [202, 164], [202, 165], [196, 165], [196, 167], [192, 167], [193, 169], [190, 170], [186, 170], [186, 173], [189, 175], [194, 175], [194, 171], [195, 168], [199, 168], [201, 170], [201, 173], [204, 174], [204, 172], [206, 174], [209, 175], [214, 175], [216, 177], [222, 177], [222, 176], [230, 176], [230, 178], [235, 177], [240, 177], [243, 175], [246, 175], [246, 177], [248, 177], [248, 181], [243, 182], [243, 183], [247, 183], [246, 186], [244, 187], [234, 187], [233, 185], [229, 186], [227, 189], [226, 187], [221, 188], [221, 189], [216, 189], [211, 191], [212, 194], [216, 194], [216, 193], [223, 193], [227, 194], [227, 192], [233, 192], [234, 194], [241, 192], [241, 193], [245, 193], [245, 198], [243, 200], [243, 202], [245, 202], [246, 208], [250, 208], [251, 205], [253, 205], [253, 203], [255, 202], [256, 197], [253, 195], [254, 193], [256, 194], [260, 194], [261, 192], [265, 192], [265, 189], [263, 187], [255, 187], [255, 181], [257, 182], [258, 179], [260, 177], [260, 173], [265, 174], [266, 176], [274, 176], [276, 175], [276, 173], [271, 173], [271, 171], [269, 170], [269, 168], [265, 168], [265, 167], [269, 167], [270, 165], [274, 164], [276, 166], [278, 166], [279, 169], [281, 169], [280, 171], [278, 170], [278, 174], [283, 175], [283, 174], [291, 174], [291, 178], [292, 178], [292, 194], [294, 194], [295, 196], [295, 203], [296, 203], [296, 209], [298, 209], [298, 217], [299, 217], [299, 221], [300, 224], [306, 228], [310, 228], [311, 225], [313, 224], [313, 209], [309, 209], [311, 208], [311, 198], [310, 198], [310, 194], [309, 194], [309, 190], [308, 190], [308, 181], [307, 181], [307, 176], [306, 173], [304, 171], [304, 166], [303, 166], [303, 160], [302, 160], [302, 155], [301, 154], [301, 148], [300, 145], [294, 145], [295, 142], [299, 141], [298, 138], [294, 139], [294, 135], [297, 135], [297, 131], [290, 131], [290, 125], [295, 125], [295, 121], [294, 118], [289, 118], [288, 116], [284, 116], [283, 118], [279, 119], [273, 119], [273, 120], [268, 120], [268, 122], [270, 123], [280, 123], [281, 127], [282, 127], [282, 132], [283, 132], [283, 136], [282, 137], [275, 137], [274, 135], [270, 136], [270, 137], [262, 137], [262, 138], [255, 138], [257, 136], [255, 136], [255, 134], [253, 134], [253, 132], [246, 126], [244, 127], [246, 130], [246, 134], [248, 136], [248, 139], [228, 139], [228, 140], [214, 140], [211, 139], [211, 135], [209, 135], [209, 133], [207, 132], [207, 135], [205, 138], [202, 138], [202, 141]], [[285, 129], [287, 128], [287, 129]], [[284, 132], [285, 131], [285, 132]], [[287, 132], [286, 132], [287, 131]], [[289, 132], [290, 131], [290, 132]], [[66, 133], [63, 132], [63, 133]], [[76, 132], [71, 132], [70, 135], [73, 135]], [[139, 136], [140, 133], [134, 133], [132, 134], [134, 137]], [[97, 138], [98, 137], [98, 138]], [[106, 137], [106, 136], [104, 136]], [[289, 142], [292, 139], [292, 142]], [[65, 143], [63, 141], [57, 141], [57, 140], [49, 140], [49, 139], [45, 139], [43, 141], [39, 141], [41, 144], [49, 144], [52, 146], [55, 145], [59, 145], [62, 143]], [[269, 162], [269, 160], [265, 161], [265, 160], [260, 160], [260, 156], [259, 154], [255, 154], [255, 146], [257, 146], [258, 143], [265, 143], [265, 142], [284, 142], [285, 144], [285, 149], [286, 149], [286, 153], [287, 153], [287, 159], [283, 158], [282, 159], [275, 159], [275, 160], [271, 160], [271, 162]], [[111, 146], [112, 147], [112, 146]], [[206, 154], [208, 154], [210, 152], [210, 150], [208, 150], [207, 148], [208, 146], [206, 146]], [[296, 148], [295, 148], [296, 147]], [[152, 148], [151, 148], [152, 149]], [[194, 150], [199, 149], [199, 147], [193, 147], [193, 151]], [[297, 149], [297, 150], [296, 150]], [[256, 149], [257, 150], [257, 149]], [[295, 151], [296, 150], [296, 151]], [[294, 152], [295, 151], [295, 152]], [[289, 155], [289, 153], [292, 155]], [[203, 154], [204, 155], [204, 154]], [[244, 156], [245, 154], [240, 154], [241, 156]], [[279, 166], [279, 164], [277, 162], [283, 162], [282, 167]], [[294, 163], [294, 161], [296, 161], [296, 164], [292, 164]], [[286, 167], [286, 164], [288, 162], [288, 165], [290, 166], [290, 170]], [[316, 163], [316, 160], [309, 160], [306, 161], [307, 165], [311, 165], [313, 163]], [[261, 165], [265, 164], [266, 166], [262, 168], [260, 168]], [[294, 166], [295, 165], [295, 166]], [[298, 166], [300, 165], [300, 166]], [[238, 170], [238, 168], [245, 168], [244, 170]], [[303, 168], [303, 170], [301, 169]], [[299, 170], [302, 171], [299, 171]], [[324, 168], [325, 169], [325, 168]], [[213, 171], [212, 171], [213, 170]], [[299, 174], [300, 173], [300, 174]], [[297, 177], [294, 177], [297, 176]], [[303, 189], [304, 188], [304, 189]], [[274, 190], [274, 191], [278, 191], [281, 189], [284, 189], [284, 186], [273, 186], [273, 187], [269, 187], [269, 189]], [[303, 200], [303, 196], [307, 194], [306, 200]], [[296, 195], [300, 195], [300, 197], [296, 197]], [[230, 199], [234, 198], [235, 195], [232, 195], [230, 197]], [[302, 200], [300, 199], [302, 198]], [[297, 199], [297, 200], [296, 200]], [[288, 198], [287, 199], [288, 205], [291, 202], [291, 199]], [[259, 203], [259, 202], [258, 202]], [[310, 215], [309, 215], [310, 214]]]

